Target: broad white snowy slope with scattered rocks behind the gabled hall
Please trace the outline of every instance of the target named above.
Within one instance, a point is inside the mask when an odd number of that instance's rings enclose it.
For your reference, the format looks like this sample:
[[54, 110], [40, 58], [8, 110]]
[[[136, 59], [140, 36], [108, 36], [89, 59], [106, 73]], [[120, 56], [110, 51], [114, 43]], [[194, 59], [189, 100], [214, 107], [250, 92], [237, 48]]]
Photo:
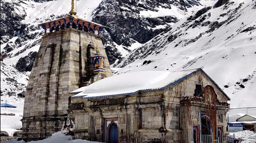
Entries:
[[255, 15], [255, 0], [205, 7], [113, 65], [116, 74], [204, 67], [230, 96], [231, 107], [256, 106]]

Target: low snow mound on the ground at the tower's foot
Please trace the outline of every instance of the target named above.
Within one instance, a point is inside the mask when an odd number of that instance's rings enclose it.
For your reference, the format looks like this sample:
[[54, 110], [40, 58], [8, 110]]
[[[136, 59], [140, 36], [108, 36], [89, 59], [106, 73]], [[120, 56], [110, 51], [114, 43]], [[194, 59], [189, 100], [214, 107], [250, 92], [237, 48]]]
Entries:
[[[5, 143], [26, 143], [23, 140], [17, 141], [17, 139], [12, 141], [7, 141]], [[27, 143], [99, 143], [99, 142], [92, 142], [88, 140], [82, 139], [72, 139], [71, 136], [66, 136], [65, 134], [61, 133], [61, 131], [55, 132], [53, 136], [48, 137], [46, 139], [40, 141], [31, 141]]]

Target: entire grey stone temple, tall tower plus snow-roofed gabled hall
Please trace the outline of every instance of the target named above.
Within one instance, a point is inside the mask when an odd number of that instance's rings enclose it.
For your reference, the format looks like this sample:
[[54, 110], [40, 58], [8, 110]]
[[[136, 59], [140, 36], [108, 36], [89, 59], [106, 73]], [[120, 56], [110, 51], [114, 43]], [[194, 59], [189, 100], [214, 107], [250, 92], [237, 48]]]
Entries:
[[[229, 97], [201, 68], [112, 76], [106, 28], [74, 11], [45, 30], [27, 85], [22, 138], [63, 131], [105, 143], [224, 142]], [[209, 142], [211, 143], [211, 142]]]

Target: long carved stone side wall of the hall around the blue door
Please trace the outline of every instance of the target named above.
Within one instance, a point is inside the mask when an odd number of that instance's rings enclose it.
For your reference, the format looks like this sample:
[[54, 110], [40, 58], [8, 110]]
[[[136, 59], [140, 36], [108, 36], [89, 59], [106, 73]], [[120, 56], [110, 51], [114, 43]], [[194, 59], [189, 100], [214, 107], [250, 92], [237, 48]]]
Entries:
[[74, 117], [74, 137], [106, 142], [104, 124], [116, 119], [120, 143], [179, 143], [178, 104], [166, 103], [162, 95], [163, 91], [155, 91], [105, 99], [72, 98], [68, 114]]

